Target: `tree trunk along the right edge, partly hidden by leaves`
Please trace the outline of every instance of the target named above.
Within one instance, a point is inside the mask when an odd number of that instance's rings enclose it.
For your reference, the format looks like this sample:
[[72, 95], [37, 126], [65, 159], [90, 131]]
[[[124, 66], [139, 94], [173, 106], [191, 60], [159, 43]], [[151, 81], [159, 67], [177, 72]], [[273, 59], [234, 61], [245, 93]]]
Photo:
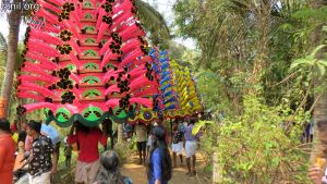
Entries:
[[[319, 9], [324, 5], [324, 0], [312, 0], [311, 5], [314, 9]], [[313, 34], [312, 41], [314, 47], [317, 47], [319, 44], [322, 44], [320, 39], [322, 35], [322, 27], [317, 27]], [[318, 54], [323, 56], [323, 54]], [[314, 71], [314, 72], [317, 72]], [[315, 78], [315, 86], [318, 86], [318, 84], [322, 84], [317, 78]], [[314, 147], [311, 154], [311, 163], [314, 164], [317, 160], [317, 158], [326, 157], [323, 152], [323, 144], [320, 142], [319, 135], [322, 134], [322, 131], [317, 127], [317, 122], [319, 121], [327, 121], [327, 90], [324, 90], [323, 94], [315, 94], [315, 101], [316, 105], [314, 107]], [[324, 124], [323, 126], [327, 126], [327, 124]]]

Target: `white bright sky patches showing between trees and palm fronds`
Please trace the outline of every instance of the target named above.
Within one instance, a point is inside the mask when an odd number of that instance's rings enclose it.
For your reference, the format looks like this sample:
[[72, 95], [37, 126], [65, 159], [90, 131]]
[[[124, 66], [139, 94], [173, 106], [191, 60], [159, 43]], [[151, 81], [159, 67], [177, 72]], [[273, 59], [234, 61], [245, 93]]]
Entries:
[[[165, 20], [169, 25], [172, 24], [172, 21], [174, 19], [173, 12], [172, 12], [172, 5], [175, 2], [175, 0], [143, 0], [152, 5], [154, 5], [154, 2], [157, 2], [157, 9], [158, 11], [164, 15]], [[26, 25], [22, 24], [20, 27], [20, 39], [24, 39], [24, 35], [26, 32]], [[0, 15], [0, 33], [3, 34], [4, 37], [9, 34], [9, 25], [7, 22], [7, 19], [3, 13]], [[185, 47], [190, 49], [195, 49], [195, 42], [193, 39], [182, 39], [182, 38], [175, 38], [177, 42], [184, 45]]]

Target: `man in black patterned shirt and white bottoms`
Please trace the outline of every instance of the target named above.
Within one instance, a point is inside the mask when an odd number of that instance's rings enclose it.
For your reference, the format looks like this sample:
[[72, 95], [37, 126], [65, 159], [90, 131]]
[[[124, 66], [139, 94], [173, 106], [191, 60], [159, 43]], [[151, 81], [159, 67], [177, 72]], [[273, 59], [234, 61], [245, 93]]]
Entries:
[[32, 150], [26, 162], [29, 184], [50, 184], [51, 173], [55, 173], [57, 168], [51, 158], [51, 155], [56, 157], [52, 142], [41, 135], [40, 131], [41, 122], [28, 122], [26, 132], [33, 137]]

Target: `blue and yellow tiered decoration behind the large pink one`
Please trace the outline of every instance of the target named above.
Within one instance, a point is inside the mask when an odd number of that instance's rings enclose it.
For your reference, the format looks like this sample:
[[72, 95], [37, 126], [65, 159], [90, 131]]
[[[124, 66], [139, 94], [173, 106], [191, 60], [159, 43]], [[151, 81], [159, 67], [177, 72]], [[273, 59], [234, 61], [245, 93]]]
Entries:
[[170, 61], [167, 51], [159, 52], [154, 48], [149, 56], [155, 60], [152, 70], [160, 85], [159, 91], [154, 95], [154, 108], [142, 108], [135, 116], [129, 119], [129, 123], [149, 124], [160, 114], [177, 119], [203, 112], [190, 69], [179, 65], [173, 60]]

